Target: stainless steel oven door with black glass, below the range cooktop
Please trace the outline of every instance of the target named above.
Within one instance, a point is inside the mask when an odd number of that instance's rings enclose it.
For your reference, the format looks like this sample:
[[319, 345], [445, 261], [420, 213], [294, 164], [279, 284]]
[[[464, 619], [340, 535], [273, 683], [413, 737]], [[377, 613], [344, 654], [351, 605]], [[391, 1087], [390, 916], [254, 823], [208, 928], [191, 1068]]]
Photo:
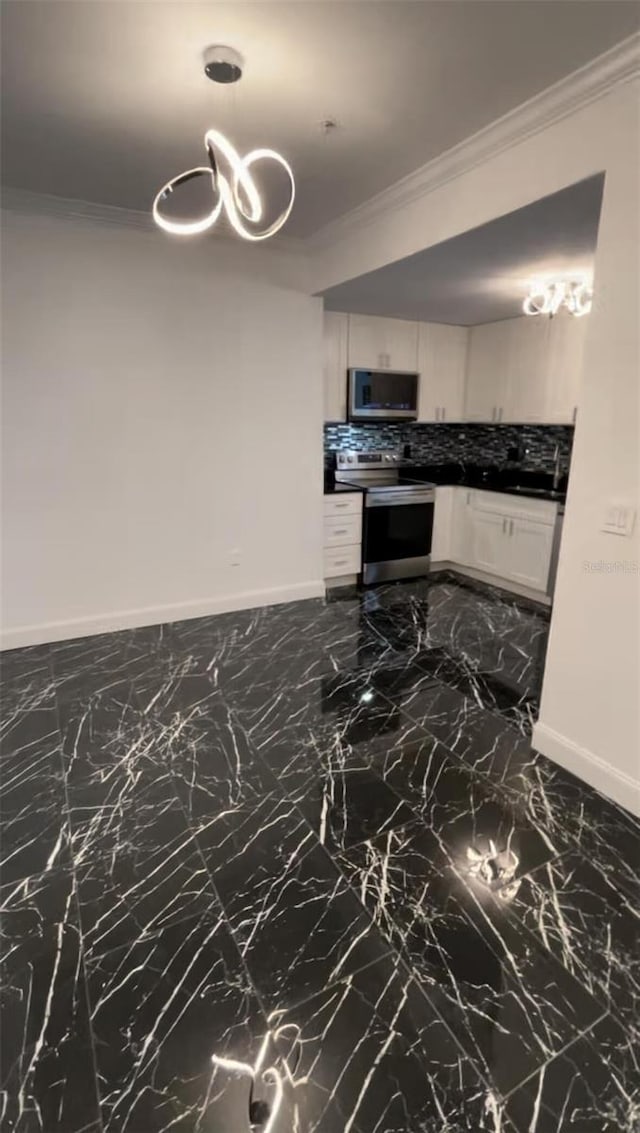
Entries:
[[362, 581], [426, 574], [432, 552], [435, 493], [367, 493], [362, 533]]

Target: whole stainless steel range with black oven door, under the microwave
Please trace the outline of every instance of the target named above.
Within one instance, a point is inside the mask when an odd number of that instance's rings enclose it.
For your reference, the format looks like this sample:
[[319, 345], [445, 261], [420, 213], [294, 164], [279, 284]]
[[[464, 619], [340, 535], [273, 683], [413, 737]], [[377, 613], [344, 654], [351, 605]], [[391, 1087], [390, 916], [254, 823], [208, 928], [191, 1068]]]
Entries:
[[400, 453], [338, 452], [335, 479], [365, 489], [362, 582], [429, 570], [435, 485], [411, 479]]

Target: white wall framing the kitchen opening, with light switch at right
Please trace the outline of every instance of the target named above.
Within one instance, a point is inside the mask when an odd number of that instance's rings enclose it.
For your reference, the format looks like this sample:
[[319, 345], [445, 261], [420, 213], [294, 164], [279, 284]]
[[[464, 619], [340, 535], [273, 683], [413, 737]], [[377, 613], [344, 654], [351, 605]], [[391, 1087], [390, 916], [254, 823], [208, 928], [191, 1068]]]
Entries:
[[[638, 67], [635, 65], [635, 73]], [[640, 813], [640, 514], [600, 530], [607, 503], [640, 506], [640, 84], [621, 83], [468, 171], [325, 233], [324, 289], [606, 171], [582, 397], [535, 744]], [[436, 178], [437, 180], [437, 178]], [[589, 572], [623, 561], [630, 573]], [[635, 564], [635, 572], [633, 572]]]

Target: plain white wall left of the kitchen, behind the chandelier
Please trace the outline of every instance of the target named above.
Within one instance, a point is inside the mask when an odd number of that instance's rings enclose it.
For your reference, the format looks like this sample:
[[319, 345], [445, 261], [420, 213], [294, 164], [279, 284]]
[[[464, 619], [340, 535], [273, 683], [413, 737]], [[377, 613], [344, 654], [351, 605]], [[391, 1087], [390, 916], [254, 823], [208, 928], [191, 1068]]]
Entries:
[[2, 645], [323, 593], [322, 304], [296, 264], [2, 216]]

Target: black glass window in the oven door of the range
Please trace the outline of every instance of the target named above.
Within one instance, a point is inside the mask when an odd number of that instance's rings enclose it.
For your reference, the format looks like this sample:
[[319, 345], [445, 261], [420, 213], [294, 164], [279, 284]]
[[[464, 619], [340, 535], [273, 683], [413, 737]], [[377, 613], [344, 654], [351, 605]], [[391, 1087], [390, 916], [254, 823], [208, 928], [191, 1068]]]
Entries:
[[368, 508], [362, 559], [367, 563], [383, 563], [428, 555], [433, 526], [433, 503]]

